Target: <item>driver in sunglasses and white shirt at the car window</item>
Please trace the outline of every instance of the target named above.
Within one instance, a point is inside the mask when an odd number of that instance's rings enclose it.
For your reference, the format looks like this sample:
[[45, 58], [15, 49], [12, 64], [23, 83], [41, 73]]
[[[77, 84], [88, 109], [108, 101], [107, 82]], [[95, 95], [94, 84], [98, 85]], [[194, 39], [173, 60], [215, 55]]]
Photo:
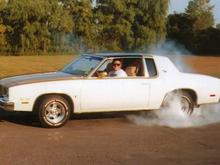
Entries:
[[121, 69], [122, 61], [120, 59], [114, 59], [112, 62], [113, 70], [109, 72], [109, 77], [127, 77], [127, 73]]

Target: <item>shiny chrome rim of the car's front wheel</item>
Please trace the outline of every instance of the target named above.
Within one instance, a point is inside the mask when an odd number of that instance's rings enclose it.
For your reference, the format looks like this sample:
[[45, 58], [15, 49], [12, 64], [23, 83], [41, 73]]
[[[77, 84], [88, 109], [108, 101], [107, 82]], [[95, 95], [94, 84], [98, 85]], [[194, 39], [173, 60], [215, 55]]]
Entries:
[[65, 119], [67, 110], [63, 103], [58, 101], [49, 102], [45, 106], [45, 119], [52, 124], [58, 124]]

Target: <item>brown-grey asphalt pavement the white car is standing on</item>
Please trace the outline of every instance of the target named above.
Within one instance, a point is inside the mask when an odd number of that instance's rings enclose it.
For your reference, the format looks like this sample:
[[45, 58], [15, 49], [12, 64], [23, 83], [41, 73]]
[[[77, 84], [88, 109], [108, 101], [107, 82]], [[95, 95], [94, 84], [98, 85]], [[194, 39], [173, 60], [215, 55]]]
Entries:
[[0, 164], [219, 165], [220, 123], [137, 126], [122, 114], [78, 115], [58, 129], [0, 111]]

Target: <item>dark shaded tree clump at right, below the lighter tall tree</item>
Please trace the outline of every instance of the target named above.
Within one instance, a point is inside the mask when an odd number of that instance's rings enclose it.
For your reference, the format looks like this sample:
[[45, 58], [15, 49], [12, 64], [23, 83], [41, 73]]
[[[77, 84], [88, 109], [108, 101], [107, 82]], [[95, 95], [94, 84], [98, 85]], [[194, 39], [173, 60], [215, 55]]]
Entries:
[[167, 39], [181, 43], [194, 54], [219, 55], [220, 29], [210, 27], [193, 31], [193, 24], [194, 20], [185, 13], [169, 15]]

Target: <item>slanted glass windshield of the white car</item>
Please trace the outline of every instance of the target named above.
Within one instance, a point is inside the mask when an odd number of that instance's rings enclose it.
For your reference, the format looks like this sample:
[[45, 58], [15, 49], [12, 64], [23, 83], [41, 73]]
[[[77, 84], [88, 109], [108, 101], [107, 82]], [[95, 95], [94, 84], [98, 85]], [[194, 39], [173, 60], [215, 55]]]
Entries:
[[102, 61], [102, 58], [93, 56], [82, 56], [64, 67], [61, 71], [77, 76], [88, 76], [88, 74]]

